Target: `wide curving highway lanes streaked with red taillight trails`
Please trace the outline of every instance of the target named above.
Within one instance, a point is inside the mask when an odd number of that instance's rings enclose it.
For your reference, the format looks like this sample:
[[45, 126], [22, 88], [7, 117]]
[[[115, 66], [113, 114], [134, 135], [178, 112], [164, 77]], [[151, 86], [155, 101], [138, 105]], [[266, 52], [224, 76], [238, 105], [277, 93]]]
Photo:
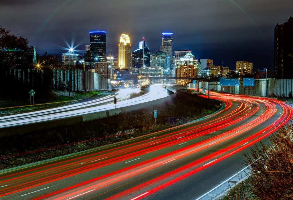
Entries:
[[197, 199], [293, 115], [276, 99], [210, 94], [224, 106], [200, 120], [0, 172], [0, 199]]

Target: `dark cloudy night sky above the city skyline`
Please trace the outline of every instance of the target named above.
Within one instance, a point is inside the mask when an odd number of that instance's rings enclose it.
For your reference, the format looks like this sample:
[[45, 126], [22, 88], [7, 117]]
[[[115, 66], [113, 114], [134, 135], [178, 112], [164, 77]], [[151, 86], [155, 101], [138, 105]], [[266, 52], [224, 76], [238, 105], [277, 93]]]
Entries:
[[27, 37], [37, 53], [66, 53], [67, 44], [83, 55], [89, 31], [107, 31], [107, 54], [118, 57], [121, 33], [132, 51], [144, 36], [151, 52], [161, 32], [173, 32], [174, 51], [190, 49], [196, 58], [236, 68], [273, 68], [274, 27], [293, 16], [292, 0], [9, 0], [0, 2], [0, 25]]

